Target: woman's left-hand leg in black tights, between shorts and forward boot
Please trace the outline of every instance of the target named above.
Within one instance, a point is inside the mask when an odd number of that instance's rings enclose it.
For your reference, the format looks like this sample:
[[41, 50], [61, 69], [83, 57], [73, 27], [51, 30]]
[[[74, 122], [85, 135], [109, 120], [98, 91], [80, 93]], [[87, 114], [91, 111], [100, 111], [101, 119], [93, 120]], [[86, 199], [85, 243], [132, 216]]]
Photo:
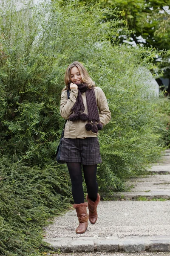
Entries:
[[67, 167], [71, 178], [74, 204], [82, 204], [84, 203], [84, 192], [82, 188], [81, 163], [67, 163]]

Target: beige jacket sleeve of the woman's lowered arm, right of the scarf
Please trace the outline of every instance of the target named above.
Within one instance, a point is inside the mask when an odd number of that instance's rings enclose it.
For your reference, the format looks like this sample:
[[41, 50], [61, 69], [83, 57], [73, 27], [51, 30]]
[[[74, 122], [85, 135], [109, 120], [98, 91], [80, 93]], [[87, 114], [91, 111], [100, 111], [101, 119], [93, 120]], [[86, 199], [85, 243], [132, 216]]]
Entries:
[[100, 122], [102, 125], [108, 124], [111, 120], [111, 111], [109, 110], [108, 101], [102, 89], [99, 92], [98, 108]]

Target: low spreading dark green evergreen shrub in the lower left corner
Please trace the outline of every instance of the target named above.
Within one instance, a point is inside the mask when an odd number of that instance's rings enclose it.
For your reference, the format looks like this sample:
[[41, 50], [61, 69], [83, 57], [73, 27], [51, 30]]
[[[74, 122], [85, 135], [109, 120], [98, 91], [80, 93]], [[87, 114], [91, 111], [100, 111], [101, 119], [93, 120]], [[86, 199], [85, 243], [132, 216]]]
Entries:
[[42, 230], [51, 216], [67, 209], [71, 196], [66, 168], [40, 169], [0, 161], [0, 252], [3, 255], [39, 255], [45, 248]]

